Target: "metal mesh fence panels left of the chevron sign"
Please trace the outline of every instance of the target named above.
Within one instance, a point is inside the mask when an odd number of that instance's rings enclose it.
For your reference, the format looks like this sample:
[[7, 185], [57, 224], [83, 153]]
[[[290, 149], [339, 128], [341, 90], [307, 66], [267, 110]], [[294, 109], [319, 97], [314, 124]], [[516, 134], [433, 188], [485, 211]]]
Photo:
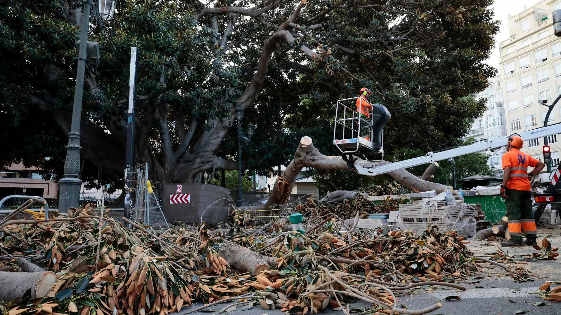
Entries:
[[149, 180], [148, 163], [125, 171], [125, 189], [128, 196], [125, 211], [133, 221], [150, 226], [169, 226], [162, 212], [162, 182]]

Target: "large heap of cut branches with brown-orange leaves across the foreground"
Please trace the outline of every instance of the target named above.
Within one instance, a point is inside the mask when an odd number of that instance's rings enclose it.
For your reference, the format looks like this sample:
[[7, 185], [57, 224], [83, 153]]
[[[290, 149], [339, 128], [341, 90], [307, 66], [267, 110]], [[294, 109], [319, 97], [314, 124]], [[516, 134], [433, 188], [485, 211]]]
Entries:
[[163, 315], [195, 301], [205, 305], [190, 312], [233, 301], [220, 312], [259, 305], [297, 314], [328, 307], [348, 313], [346, 303], [358, 299], [380, 314], [424, 314], [442, 305], [402, 309], [394, 291], [464, 289], [451, 282], [479, 267], [453, 231], [382, 234], [345, 226], [334, 215], [308, 217], [305, 233], [283, 231], [286, 223], [279, 220], [236, 226], [226, 236], [204, 225], [157, 231], [124, 218], [123, 224], [88, 206], [54, 219], [13, 220], [20, 210], [0, 222], [0, 270], [56, 277], [45, 293], [22, 285], [12, 298], [2, 287], [2, 311], [12, 315]]

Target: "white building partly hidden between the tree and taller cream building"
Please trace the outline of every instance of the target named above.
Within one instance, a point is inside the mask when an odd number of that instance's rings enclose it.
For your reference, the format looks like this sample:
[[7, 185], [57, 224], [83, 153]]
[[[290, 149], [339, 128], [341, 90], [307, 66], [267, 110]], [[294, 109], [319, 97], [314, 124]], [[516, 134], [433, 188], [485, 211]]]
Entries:
[[[507, 135], [507, 130], [505, 129], [503, 85], [501, 78], [501, 75], [489, 78], [489, 86], [487, 89], [481, 91], [475, 96], [476, 99], [486, 98], [487, 108], [480, 117], [477, 117], [472, 122], [470, 131], [463, 137], [463, 140], [468, 138], [481, 140], [489, 137], [504, 137]], [[496, 176], [500, 176], [502, 174], [503, 168], [501, 160], [504, 152], [506, 152], [505, 148], [501, 148], [495, 152], [482, 152], [489, 155], [487, 163]]]

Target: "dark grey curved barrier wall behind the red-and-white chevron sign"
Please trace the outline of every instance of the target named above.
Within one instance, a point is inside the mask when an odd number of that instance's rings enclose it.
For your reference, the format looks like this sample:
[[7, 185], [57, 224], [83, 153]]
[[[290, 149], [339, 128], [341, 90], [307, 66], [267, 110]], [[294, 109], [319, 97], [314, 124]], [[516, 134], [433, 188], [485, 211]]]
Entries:
[[[182, 186], [181, 193], [190, 194], [189, 203], [171, 203], [170, 196], [176, 194], [177, 185]], [[221, 198], [227, 198], [227, 200], [220, 200], [210, 206]], [[233, 210], [229, 206], [230, 191], [215, 185], [167, 183], [164, 184], [162, 199], [162, 210], [168, 222], [180, 220], [181, 223], [198, 224], [203, 216], [206, 224], [217, 225], [220, 222], [226, 222], [229, 212]], [[207, 207], [209, 208], [205, 212]]]

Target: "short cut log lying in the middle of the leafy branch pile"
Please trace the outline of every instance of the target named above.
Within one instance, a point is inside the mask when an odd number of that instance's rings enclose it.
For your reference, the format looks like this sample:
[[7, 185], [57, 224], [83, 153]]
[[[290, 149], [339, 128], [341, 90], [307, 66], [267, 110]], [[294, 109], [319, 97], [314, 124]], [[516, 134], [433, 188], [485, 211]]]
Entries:
[[256, 275], [269, 269], [269, 262], [264, 256], [228, 240], [220, 244], [218, 254], [228, 262], [228, 266], [238, 271]]

